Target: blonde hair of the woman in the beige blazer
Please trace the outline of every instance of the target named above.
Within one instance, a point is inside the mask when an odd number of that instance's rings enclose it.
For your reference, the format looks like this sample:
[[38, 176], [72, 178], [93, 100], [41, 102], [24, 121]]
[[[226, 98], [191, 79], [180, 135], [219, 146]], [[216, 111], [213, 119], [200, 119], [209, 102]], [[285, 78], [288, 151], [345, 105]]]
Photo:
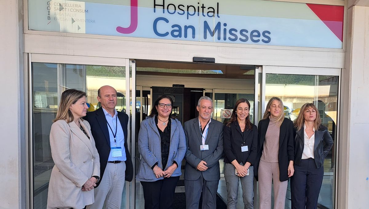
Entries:
[[74, 88], [65, 90], [60, 98], [58, 112], [56, 113], [56, 118], [53, 122], [58, 120], [65, 120], [67, 123], [72, 122], [74, 118], [69, 107], [70, 105], [75, 104], [82, 97], [86, 97], [86, 93], [84, 91], [79, 91]]

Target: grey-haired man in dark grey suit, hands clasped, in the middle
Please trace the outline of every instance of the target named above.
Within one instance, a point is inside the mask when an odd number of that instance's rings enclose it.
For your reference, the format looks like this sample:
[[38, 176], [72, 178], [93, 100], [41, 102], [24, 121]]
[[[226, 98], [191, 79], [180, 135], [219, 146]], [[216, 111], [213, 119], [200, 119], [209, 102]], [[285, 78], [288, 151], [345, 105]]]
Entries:
[[200, 97], [196, 109], [199, 117], [183, 126], [187, 144], [184, 156], [186, 208], [198, 209], [202, 193], [202, 209], [214, 209], [220, 180], [219, 159], [223, 155], [223, 123], [211, 119], [211, 98]]

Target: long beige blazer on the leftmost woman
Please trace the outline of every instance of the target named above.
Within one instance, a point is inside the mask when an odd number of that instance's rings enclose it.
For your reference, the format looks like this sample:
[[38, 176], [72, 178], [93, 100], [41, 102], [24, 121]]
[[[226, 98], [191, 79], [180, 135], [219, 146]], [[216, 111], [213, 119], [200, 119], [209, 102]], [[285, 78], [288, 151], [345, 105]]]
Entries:
[[56, 121], [51, 126], [50, 146], [55, 166], [52, 168], [47, 200], [48, 209], [82, 209], [94, 202], [94, 190], [82, 191], [85, 182], [100, 177], [99, 153], [90, 124], [79, 119], [90, 139], [75, 122]]

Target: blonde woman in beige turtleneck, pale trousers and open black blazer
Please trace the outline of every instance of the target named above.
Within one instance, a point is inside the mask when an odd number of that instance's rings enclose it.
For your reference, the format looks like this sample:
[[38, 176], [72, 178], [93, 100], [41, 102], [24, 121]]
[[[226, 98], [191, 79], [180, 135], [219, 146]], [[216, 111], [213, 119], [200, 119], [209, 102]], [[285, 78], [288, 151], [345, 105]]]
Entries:
[[284, 209], [288, 179], [294, 173], [294, 147], [293, 123], [284, 118], [280, 98], [269, 100], [258, 130], [254, 175], [259, 181], [259, 208], [271, 208], [273, 180], [274, 209]]

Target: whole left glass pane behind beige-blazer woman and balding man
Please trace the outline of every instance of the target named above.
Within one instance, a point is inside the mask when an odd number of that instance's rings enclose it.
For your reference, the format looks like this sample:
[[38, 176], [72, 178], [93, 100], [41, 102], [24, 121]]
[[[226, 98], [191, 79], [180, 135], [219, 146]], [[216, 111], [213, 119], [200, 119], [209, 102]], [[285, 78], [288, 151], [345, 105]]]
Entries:
[[117, 111], [125, 111], [125, 67], [32, 63], [33, 79], [33, 183], [34, 208], [44, 209], [52, 160], [49, 133], [61, 93], [70, 88], [87, 92], [88, 111], [100, 107], [97, 90], [104, 85], [117, 90]]

